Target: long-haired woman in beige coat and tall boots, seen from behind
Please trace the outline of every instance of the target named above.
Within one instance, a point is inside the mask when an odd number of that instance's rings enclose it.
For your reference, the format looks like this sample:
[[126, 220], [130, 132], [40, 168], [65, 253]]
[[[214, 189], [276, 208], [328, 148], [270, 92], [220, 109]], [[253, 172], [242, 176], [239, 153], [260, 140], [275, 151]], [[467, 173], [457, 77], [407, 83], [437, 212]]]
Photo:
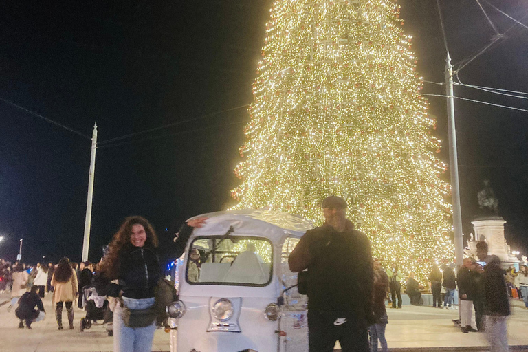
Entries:
[[77, 276], [66, 257], [58, 262], [52, 277], [54, 287], [53, 302], [56, 303], [55, 318], [58, 329], [63, 329], [63, 307], [66, 305], [68, 312], [69, 329], [74, 329], [74, 301], [77, 297]]

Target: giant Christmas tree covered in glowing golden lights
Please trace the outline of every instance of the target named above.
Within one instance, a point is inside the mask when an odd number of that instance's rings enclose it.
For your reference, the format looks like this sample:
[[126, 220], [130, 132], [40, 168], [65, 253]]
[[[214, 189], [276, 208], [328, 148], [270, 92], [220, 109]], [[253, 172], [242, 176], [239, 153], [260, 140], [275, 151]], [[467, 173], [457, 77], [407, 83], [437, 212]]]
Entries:
[[320, 224], [340, 195], [375, 256], [424, 281], [454, 254], [450, 185], [401, 25], [391, 0], [274, 2], [232, 197]]

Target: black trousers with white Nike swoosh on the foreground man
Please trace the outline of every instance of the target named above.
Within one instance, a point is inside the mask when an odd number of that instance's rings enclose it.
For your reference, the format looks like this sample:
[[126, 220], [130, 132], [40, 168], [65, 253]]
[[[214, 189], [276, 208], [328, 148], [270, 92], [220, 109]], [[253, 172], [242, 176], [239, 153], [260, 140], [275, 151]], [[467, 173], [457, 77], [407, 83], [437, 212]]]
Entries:
[[342, 352], [369, 352], [368, 327], [357, 318], [340, 324], [336, 318], [318, 311], [308, 311], [309, 352], [333, 352], [339, 341]]

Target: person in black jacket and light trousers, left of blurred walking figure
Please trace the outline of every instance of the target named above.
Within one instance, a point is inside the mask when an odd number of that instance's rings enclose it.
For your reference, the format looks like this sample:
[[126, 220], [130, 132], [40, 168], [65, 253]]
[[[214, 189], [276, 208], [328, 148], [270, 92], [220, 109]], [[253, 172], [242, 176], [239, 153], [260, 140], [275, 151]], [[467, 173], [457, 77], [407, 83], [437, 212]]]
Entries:
[[459, 283], [460, 325], [463, 333], [477, 331], [471, 326], [475, 289], [470, 272], [472, 265], [472, 259], [464, 258], [463, 264], [456, 274], [456, 281]]

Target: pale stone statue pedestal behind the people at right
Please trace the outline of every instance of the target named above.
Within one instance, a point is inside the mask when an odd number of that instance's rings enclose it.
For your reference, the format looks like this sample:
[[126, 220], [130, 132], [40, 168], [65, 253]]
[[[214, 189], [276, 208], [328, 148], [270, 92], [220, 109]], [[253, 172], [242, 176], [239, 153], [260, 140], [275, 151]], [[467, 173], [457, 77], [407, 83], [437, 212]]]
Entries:
[[488, 254], [496, 255], [501, 261], [509, 261], [507, 243], [504, 238], [502, 217], [486, 217], [471, 222], [475, 230], [475, 241], [487, 241]]

